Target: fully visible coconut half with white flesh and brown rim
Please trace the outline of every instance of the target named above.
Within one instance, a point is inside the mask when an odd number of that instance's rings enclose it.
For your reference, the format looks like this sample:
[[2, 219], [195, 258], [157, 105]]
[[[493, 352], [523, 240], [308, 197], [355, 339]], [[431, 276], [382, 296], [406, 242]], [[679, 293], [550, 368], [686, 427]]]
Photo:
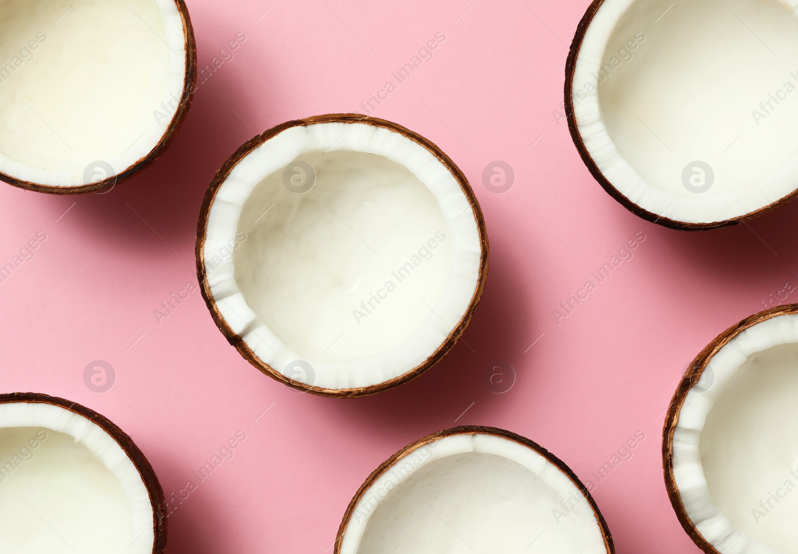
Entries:
[[480, 301], [488, 238], [438, 147], [354, 114], [256, 136], [205, 194], [203, 297], [255, 367], [319, 395], [396, 387], [437, 363]]

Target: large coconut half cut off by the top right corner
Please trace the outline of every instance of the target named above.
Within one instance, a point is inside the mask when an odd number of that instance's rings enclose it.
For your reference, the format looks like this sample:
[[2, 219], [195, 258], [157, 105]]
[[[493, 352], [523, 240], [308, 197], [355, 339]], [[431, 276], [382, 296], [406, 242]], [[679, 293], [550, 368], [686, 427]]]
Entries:
[[568, 126], [604, 189], [681, 230], [798, 195], [796, 0], [595, 0], [566, 66]]

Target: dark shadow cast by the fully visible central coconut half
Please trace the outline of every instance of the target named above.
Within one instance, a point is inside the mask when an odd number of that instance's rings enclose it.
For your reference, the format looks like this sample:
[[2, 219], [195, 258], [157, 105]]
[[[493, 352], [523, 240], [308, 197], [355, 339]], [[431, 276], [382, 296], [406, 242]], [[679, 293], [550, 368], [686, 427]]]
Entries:
[[[335, 409], [365, 426], [366, 434], [380, 435], [391, 443], [412, 441], [457, 425], [490, 424], [493, 418], [489, 414], [499, 411], [504, 399], [516, 392], [520, 379], [529, 378], [522, 367], [535, 363], [534, 352], [524, 355], [521, 346], [527, 338], [521, 332], [528, 328], [531, 300], [523, 296], [524, 276], [516, 269], [512, 252], [511, 245], [492, 239], [482, 300], [448, 356], [417, 379], [390, 391], [363, 399], [330, 400]], [[516, 336], [508, 329], [521, 331]], [[516, 386], [504, 393], [492, 391], [496, 387], [488, 384], [489, 371], [497, 361], [512, 364], [516, 371]], [[475, 407], [479, 417], [474, 417]]]

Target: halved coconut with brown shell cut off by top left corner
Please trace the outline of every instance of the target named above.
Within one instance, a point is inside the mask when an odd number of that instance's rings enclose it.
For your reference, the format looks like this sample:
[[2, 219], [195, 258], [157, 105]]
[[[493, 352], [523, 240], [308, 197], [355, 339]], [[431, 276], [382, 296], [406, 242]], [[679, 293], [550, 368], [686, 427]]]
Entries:
[[183, 0], [0, 2], [0, 180], [97, 191], [172, 142], [196, 44]]

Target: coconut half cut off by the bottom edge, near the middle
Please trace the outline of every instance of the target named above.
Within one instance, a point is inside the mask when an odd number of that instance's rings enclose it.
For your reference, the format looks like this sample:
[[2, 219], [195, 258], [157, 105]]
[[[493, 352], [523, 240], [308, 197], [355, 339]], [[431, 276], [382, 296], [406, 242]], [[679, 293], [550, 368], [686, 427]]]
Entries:
[[429, 435], [375, 470], [335, 554], [614, 552], [585, 485], [534, 442], [491, 427]]

